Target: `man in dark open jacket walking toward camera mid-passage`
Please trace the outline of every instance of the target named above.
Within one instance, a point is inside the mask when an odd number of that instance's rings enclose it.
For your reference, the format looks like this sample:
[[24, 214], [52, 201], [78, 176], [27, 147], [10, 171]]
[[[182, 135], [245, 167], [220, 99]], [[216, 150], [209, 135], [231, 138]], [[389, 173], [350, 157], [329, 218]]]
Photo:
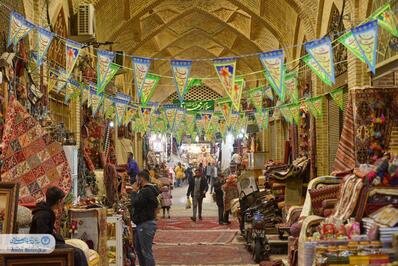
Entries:
[[187, 197], [192, 197], [192, 211], [193, 216], [191, 220], [196, 222], [196, 212], [198, 209], [199, 220], [202, 220], [202, 202], [203, 198], [206, 197], [206, 192], [209, 189], [206, 177], [204, 177], [199, 169], [195, 170], [195, 177], [188, 180], [189, 186], [187, 191]]

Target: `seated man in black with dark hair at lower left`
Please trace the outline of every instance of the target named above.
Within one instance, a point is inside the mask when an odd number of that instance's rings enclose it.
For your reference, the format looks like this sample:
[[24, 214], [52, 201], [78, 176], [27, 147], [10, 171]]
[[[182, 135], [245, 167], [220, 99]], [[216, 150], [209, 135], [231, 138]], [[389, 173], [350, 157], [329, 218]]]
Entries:
[[30, 234], [50, 234], [55, 238], [55, 248], [73, 248], [74, 249], [74, 265], [87, 266], [87, 259], [81, 249], [74, 248], [65, 244], [61, 235], [55, 232], [55, 212], [63, 204], [65, 193], [57, 187], [49, 187], [46, 192], [46, 202], [39, 202], [32, 211], [32, 224], [30, 226]]

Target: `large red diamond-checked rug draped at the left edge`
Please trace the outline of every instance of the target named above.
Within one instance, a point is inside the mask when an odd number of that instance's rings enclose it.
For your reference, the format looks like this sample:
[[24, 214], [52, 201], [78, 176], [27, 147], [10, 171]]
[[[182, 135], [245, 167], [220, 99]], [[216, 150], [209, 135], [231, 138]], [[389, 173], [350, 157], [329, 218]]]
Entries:
[[20, 203], [44, 200], [50, 186], [69, 193], [71, 173], [61, 144], [14, 98], [7, 109], [3, 145], [1, 179], [20, 184]]

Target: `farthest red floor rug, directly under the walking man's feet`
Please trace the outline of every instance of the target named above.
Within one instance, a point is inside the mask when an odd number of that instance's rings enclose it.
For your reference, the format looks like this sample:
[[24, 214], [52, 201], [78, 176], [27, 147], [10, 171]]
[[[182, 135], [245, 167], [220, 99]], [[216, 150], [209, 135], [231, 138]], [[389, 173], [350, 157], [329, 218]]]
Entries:
[[196, 223], [191, 221], [189, 217], [175, 217], [172, 219], [159, 219], [159, 230], [223, 230], [223, 229], [239, 229], [239, 223], [231, 219], [230, 225], [219, 225], [218, 218], [205, 217], [202, 221], [197, 220]]

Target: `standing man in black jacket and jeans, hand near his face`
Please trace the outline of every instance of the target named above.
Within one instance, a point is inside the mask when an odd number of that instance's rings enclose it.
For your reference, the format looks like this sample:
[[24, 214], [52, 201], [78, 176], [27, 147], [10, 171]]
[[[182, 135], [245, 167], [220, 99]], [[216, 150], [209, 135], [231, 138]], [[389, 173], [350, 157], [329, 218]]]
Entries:
[[155, 265], [152, 254], [152, 242], [156, 232], [156, 209], [159, 190], [150, 182], [147, 171], [137, 175], [131, 195], [133, 222], [137, 225], [135, 247], [141, 266]]

